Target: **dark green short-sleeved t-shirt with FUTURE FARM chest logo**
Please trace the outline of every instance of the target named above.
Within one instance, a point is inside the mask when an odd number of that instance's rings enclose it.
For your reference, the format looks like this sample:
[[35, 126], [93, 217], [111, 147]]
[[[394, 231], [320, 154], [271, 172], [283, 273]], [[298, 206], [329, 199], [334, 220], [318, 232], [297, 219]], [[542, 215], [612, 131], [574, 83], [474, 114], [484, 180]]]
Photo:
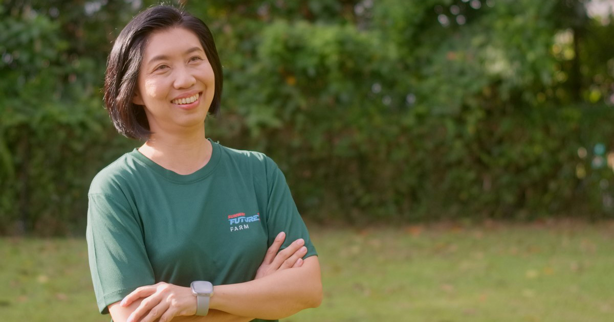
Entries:
[[143, 285], [253, 280], [281, 231], [282, 248], [303, 238], [304, 258], [316, 255], [273, 160], [211, 144], [209, 163], [193, 174], [169, 171], [134, 149], [94, 178], [87, 243], [101, 313]]

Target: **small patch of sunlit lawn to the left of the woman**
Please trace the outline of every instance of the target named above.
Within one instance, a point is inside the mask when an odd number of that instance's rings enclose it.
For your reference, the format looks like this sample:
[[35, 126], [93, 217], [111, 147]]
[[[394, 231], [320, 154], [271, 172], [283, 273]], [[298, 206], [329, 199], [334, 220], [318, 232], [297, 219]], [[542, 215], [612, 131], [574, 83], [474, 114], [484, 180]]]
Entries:
[[0, 239], [0, 320], [109, 321], [97, 314], [85, 239]]

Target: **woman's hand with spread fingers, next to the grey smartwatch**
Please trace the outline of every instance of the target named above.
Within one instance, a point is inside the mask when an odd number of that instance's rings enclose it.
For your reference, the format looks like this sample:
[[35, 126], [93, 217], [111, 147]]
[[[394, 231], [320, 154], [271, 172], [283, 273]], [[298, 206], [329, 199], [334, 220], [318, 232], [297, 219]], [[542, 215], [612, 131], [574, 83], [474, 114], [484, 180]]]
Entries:
[[141, 297], [145, 299], [126, 322], [168, 322], [175, 316], [196, 314], [196, 296], [187, 287], [164, 282], [141, 286], [124, 297], [120, 305], [127, 307]]

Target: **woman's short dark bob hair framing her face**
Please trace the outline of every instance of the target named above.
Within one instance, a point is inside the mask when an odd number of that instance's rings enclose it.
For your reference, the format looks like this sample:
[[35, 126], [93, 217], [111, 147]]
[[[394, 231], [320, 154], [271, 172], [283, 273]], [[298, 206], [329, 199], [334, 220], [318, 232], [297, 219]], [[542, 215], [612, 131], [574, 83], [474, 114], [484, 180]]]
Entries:
[[145, 45], [155, 31], [185, 28], [196, 34], [215, 75], [215, 94], [209, 113], [217, 114], [222, 95], [222, 64], [211, 31], [199, 18], [171, 6], [155, 6], [134, 17], [115, 39], [104, 77], [104, 105], [120, 134], [148, 139], [152, 132], [143, 105], [134, 104], [134, 90], [141, 70]]

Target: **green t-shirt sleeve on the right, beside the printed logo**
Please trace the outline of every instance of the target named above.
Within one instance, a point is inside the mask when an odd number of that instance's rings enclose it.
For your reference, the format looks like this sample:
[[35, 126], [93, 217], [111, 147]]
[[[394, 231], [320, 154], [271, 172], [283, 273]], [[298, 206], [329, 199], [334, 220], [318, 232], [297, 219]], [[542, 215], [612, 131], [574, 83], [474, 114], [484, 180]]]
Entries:
[[270, 158], [267, 162], [268, 204], [266, 209], [266, 225], [268, 226], [268, 244], [271, 245], [279, 232], [286, 232], [286, 240], [281, 249], [290, 245], [293, 241], [302, 238], [305, 240], [307, 253], [303, 258], [317, 255], [305, 222], [298, 213], [297, 205], [292, 199], [290, 188], [286, 183], [286, 177], [277, 164]]

